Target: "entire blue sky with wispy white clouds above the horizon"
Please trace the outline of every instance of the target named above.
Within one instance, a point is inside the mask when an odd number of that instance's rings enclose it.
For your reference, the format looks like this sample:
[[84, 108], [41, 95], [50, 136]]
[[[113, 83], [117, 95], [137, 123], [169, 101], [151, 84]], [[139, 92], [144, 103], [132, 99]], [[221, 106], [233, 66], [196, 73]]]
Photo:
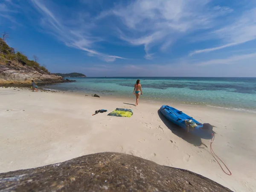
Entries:
[[255, 0], [0, 0], [0, 31], [52, 73], [256, 77]]

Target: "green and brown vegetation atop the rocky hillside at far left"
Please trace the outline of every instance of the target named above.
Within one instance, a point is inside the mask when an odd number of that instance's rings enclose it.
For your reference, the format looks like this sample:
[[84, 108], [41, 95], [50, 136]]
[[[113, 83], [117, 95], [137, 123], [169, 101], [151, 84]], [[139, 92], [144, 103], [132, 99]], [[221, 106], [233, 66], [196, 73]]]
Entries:
[[48, 70], [41, 66], [37, 61], [38, 58], [34, 55], [34, 60], [29, 60], [26, 55], [23, 55], [21, 52], [16, 52], [14, 48], [9, 47], [6, 44], [6, 38], [8, 38], [8, 34], [3, 33], [2, 38], [0, 38], [0, 63], [1, 64], [8, 64], [11, 62], [18, 62], [23, 65], [27, 65], [30, 67], [36, 67], [40, 70], [48, 72]]

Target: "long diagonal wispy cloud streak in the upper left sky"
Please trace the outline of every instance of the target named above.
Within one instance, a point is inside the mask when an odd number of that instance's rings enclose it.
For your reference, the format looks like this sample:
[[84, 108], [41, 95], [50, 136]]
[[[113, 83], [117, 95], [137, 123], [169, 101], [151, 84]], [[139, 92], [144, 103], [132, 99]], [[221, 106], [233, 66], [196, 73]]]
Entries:
[[86, 51], [89, 56], [98, 56], [104, 61], [115, 61], [116, 58], [125, 59], [123, 57], [115, 55], [107, 55], [92, 49], [93, 45], [99, 41], [100, 38], [96, 38], [90, 35], [90, 32], [85, 28], [79, 26], [67, 26], [64, 20], [57, 17], [47, 8], [40, 0], [31, 0], [36, 9], [43, 16], [41, 24], [45, 29], [50, 29], [59, 40], [63, 41], [67, 46], [74, 47]]

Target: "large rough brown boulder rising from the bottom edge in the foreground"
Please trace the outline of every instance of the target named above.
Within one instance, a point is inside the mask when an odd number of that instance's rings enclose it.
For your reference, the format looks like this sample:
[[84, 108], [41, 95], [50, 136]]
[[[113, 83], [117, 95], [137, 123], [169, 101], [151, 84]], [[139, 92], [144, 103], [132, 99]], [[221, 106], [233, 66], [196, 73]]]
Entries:
[[183, 169], [128, 154], [98, 153], [35, 169], [0, 174], [0, 191], [230, 192]]

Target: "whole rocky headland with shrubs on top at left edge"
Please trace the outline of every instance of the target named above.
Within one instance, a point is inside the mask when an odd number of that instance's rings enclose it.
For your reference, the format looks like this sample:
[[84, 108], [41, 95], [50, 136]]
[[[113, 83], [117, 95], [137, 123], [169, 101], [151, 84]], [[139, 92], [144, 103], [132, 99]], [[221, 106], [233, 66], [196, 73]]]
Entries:
[[29, 60], [26, 55], [16, 52], [0, 38], [0, 85], [29, 85], [31, 80], [39, 84], [65, 82], [61, 76], [49, 71], [37, 62], [37, 57]]

